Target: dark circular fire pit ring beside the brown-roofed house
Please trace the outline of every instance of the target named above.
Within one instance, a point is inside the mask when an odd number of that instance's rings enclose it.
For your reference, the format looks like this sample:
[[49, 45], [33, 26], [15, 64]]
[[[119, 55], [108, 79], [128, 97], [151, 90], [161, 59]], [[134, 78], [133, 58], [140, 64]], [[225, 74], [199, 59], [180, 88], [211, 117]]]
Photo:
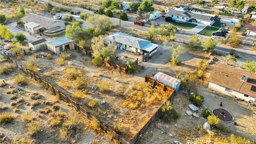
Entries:
[[217, 108], [212, 110], [213, 115], [217, 116], [222, 122], [230, 123], [234, 121], [234, 117], [231, 113], [223, 108]]

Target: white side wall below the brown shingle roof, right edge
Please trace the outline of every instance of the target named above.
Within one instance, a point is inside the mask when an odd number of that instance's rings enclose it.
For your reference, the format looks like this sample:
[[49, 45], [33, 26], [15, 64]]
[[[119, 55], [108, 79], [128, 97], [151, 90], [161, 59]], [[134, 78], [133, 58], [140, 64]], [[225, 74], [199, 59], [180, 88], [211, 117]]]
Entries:
[[226, 94], [226, 95], [229, 95], [231, 97], [237, 97], [239, 99], [242, 99], [242, 100], [245, 100], [245, 101], [249, 101], [249, 100], [252, 100], [252, 101], [256, 101], [256, 98], [253, 98], [253, 97], [245, 97], [243, 93], [240, 93], [240, 92], [237, 92], [237, 91], [234, 91], [232, 90], [232, 92], [228, 92], [228, 91], [225, 91], [226, 90], [226, 87], [223, 87], [223, 86], [220, 86], [218, 84], [214, 84], [214, 83], [209, 83], [208, 85], [208, 88], [209, 89], [212, 89], [212, 90], [215, 90], [215, 91], [219, 91], [223, 94]]

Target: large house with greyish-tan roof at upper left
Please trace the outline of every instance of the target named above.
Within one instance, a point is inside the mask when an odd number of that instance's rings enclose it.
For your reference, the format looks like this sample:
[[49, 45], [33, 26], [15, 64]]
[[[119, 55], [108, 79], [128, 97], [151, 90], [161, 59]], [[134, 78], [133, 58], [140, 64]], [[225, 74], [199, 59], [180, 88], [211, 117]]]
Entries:
[[65, 22], [60, 20], [46, 18], [33, 13], [25, 15], [21, 20], [25, 22], [25, 29], [33, 34], [44, 32], [45, 35], [55, 36], [65, 33]]

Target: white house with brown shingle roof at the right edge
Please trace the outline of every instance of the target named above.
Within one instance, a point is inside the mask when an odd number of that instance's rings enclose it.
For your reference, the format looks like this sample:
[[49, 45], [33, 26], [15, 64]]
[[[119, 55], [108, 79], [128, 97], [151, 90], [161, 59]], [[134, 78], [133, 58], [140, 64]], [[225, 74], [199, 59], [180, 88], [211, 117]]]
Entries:
[[256, 102], [256, 74], [222, 63], [214, 67], [208, 88], [241, 100]]

